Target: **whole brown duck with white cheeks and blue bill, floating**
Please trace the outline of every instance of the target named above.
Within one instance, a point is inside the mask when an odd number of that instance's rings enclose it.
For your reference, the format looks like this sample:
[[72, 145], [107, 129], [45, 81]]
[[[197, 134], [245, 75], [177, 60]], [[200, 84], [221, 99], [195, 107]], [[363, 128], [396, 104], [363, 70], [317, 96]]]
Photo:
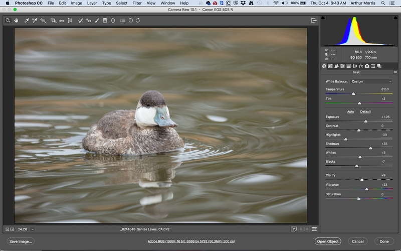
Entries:
[[143, 93], [136, 110], [115, 110], [93, 124], [82, 147], [105, 155], [146, 155], [179, 150], [183, 140], [174, 130], [163, 95], [155, 90]]

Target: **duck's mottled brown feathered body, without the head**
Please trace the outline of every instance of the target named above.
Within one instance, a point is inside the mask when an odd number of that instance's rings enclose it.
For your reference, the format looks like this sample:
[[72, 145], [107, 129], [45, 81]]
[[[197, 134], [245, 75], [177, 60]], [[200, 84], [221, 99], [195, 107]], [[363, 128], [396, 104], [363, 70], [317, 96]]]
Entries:
[[99, 154], [144, 155], [183, 148], [184, 142], [172, 127], [140, 128], [135, 110], [115, 110], [91, 127], [82, 146]]

